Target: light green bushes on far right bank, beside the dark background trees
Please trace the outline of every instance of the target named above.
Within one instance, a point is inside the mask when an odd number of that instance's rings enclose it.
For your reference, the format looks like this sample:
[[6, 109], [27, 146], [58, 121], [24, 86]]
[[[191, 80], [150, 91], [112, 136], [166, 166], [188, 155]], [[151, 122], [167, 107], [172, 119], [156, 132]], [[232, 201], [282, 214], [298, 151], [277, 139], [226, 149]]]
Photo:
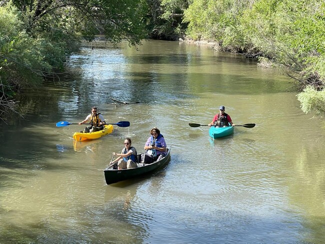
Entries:
[[185, 11], [186, 34], [192, 39], [218, 42], [224, 50], [245, 52], [251, 49], [239, 23], [250, 0], [194, 0]]

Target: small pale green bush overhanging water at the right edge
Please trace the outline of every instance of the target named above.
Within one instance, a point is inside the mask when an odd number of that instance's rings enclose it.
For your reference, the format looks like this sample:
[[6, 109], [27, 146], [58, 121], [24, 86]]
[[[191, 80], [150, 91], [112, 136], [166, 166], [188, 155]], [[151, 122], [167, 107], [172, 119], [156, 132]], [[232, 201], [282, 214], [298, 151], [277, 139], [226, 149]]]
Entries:
[[303, 92], [297, 94], [297, 98], [303, 112], [314, 112], [318, 116], [325, 116], [325, 89], [317, 91], [308, 85]]

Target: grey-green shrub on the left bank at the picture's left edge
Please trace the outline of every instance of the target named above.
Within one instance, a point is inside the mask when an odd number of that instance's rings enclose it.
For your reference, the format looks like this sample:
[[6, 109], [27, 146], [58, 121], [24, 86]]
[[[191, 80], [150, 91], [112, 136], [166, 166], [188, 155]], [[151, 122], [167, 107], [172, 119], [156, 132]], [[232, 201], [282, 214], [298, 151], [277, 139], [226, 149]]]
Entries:
[[36, 81], [36, 72], [49, 70], [50, 66], [42, 60], [38, 41], [22, 29], [22, 22], [12, 7], [0, 7], [0, 26], [0, 75], [6, 94], [11, 95], [12, 86], [17, 89]]

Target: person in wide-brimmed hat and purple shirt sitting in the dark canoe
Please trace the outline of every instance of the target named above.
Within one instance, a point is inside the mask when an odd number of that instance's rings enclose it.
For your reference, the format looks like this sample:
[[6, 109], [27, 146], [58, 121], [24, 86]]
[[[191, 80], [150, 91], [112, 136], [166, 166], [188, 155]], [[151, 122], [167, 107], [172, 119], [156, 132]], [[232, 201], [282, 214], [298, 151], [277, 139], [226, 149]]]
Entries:
[[156, 161], [159, 156], [164, 156], [166, 154], [166, 141], [163, 135], [160, 134], [160, 130], [156, 127], [150, 129], [151, 136], [147, 139], [144, 145], [144, 150], [146, 152], [144, 158], [142, 158], [143, 163], [152, 163]]

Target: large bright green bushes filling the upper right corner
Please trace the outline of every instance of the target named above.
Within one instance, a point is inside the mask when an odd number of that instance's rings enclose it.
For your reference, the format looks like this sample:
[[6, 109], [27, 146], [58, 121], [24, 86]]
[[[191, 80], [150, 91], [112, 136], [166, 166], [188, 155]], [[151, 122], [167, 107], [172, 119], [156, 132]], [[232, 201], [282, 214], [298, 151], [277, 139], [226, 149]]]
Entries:
[[242, 32], [247, 42], [294, 72], [302, 84], [316, 81], [318, 86], [325, 78], [324, 7], [316, 0], [259, 0], [242, 16]]

